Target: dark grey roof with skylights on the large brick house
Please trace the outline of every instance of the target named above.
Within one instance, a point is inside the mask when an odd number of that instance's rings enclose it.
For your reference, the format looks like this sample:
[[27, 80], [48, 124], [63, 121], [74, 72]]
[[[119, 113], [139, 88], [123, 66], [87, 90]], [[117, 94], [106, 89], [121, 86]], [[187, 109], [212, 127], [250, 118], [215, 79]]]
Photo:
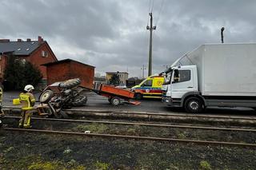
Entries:
[[0, 42], [0, 53], [14, 52], [14, 55], [30, 55], [40, 45], [38, 41]]

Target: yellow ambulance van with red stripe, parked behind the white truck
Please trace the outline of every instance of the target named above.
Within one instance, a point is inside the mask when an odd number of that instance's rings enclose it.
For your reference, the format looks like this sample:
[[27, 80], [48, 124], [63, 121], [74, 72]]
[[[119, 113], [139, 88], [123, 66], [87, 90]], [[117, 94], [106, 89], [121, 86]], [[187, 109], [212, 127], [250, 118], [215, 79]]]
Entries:
[[150, 76], [142, 81], [139, 85], [135, 85], [131, 90], [135, 93], [135, 99], [142, 98], [162, 98], [163, 76]]

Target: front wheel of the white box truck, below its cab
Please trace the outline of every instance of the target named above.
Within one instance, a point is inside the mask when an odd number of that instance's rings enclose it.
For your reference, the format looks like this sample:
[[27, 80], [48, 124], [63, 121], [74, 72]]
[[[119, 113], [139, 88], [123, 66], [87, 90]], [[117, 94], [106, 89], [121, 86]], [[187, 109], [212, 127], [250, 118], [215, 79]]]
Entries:
[[203, 104], [197, 97], [190, 97], [185, 101], [185, 109], [187, 113], [201, 113]]

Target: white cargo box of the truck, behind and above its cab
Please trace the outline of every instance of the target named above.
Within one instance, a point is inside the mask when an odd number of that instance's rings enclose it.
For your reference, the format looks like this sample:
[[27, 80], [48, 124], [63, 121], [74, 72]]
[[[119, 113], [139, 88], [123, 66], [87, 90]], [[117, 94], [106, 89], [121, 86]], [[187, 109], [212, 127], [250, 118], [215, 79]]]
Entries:
[[201, 45], [185, 58], [198, 67], [203, 96], [256, 96], [255, 43]]

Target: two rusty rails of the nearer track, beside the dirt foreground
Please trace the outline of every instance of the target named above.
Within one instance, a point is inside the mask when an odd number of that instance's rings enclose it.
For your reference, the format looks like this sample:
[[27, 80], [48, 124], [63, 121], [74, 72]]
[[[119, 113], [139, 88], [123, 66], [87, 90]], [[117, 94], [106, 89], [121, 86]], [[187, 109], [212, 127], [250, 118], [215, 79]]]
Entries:
[[[18, 119], [20, 117], [6, 117], [10, 119]], [[256, 129], [251, 128], [218, 128], [209, 126], [193, 126], [193, 125], [162, 125], [162, 124], [148, 124], [148, 123], [134, 123], [134, 122], [118, 122], [118, 121], [85, 121], [85, 120], [69, 120], [69, 119], [52, 119], [52, 118], [40, 118], [33, 117], [34, 120], [38, 121], [61, 121], [68, 123], [94, 123], [94, 124], [106, 124], [106, 125], [136, 125], [136, 126], [148, 126], [158, 128], [190, 128], [190, 129], [202, 129], [202, 130], [213, 130], [213, 131], [234, 131], [234, 132], [256, 132]], [[40, 133], [51, 133], [51, 134], [62, 134], [62, 135], [75, 135], [75, 136], [90, 136], [90, 137], [102, 137], [102, 138], [118, 138], [118, 139], [134, 139], [134, 140], [155, 140], [155, 141], [166, 141], [175, 143], [194, 143], [194, 144], [214, 144], [214, 145], [225, 145], [233, 147], [256, 147], [256, 144], [244, 143], [244, 142], [226, 142], [217, 140], [190, 140], [190, 139], [177, 139], [170, 137], [154, 137], [154, 136], [133, 136], [133, 135], [117, 135], [117, 134], [98, 134], [98, 133], [85, 133], [85, 132], [70, 132], [70, 131], [59, 131], [49, 129], [25, 129], [25, 128], [2, 128], [6, 131], [15, 132], [40, 132]]]

